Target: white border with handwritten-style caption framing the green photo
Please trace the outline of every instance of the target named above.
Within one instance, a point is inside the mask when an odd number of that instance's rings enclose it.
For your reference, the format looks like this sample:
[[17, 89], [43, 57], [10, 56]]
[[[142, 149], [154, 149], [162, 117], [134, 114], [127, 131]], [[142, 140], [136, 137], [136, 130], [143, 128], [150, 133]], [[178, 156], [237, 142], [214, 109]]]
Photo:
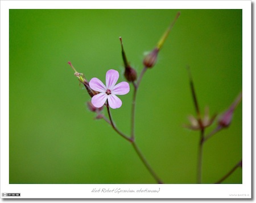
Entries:
[[[9, 184], [9, 9], [242, 9], [242, 184]], [[1, 1], [1, 193], [9, 198], [251, 198], [251, 1]], [[158, 193], [92, 193], [93, 188]], [[241, 194], [230, 197], [229, 194]], [[248, 196], [242, 196], [243, 194]], [[1, 197], [2, 198], [2, 197]]]

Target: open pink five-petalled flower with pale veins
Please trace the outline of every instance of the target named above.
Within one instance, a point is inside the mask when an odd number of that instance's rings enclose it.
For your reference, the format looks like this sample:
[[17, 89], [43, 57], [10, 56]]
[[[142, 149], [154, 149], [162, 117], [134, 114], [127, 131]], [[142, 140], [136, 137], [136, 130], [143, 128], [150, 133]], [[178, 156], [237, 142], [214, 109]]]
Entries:
[[130, 91], [130, 86], [128, 82], [120, 82], [117, 85], [117, 80], [119, 78], [119, 73], [113, 69], [106, 72], [106, 86], [94, 77], [89, 82], [89, 86], [94, 91], [100, 92], [92, 97], [93, 106], [100, 108], [102, 107], [106, 100], [108, 100], [109, 106], [112, 109], [117, 109], [122, 106], [122, 101], [115, 95], [127, 94]]

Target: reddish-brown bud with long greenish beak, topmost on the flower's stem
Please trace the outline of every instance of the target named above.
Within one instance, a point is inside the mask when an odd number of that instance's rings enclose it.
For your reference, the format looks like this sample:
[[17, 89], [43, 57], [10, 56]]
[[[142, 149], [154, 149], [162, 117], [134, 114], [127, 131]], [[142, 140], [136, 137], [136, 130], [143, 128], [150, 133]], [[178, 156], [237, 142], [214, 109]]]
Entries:
[[156, 47], [150, 53], [148, 53], [148, 55], [146, 55], [144, 57], [143, 64], [145, 67], [147, 67], [147, 68], [154, 67], [157, 57], [158, 57], [158, 52], [159, 52], [160, 48], [162, 48], [163, 43], [166, 41], [167, 36], [169, 35], [170, 31], [172, 30], [172, 27], [174, 27], [174, 24], [175, 24], [176, 20], [179, 18], [179, 16], [180, 16], [180, 12], [178, 12], [176, 14], [174, 21], [172, 21], [170, 26], [164, 32], [162, 38], [160, 38], [159, 42], [156, 44]]

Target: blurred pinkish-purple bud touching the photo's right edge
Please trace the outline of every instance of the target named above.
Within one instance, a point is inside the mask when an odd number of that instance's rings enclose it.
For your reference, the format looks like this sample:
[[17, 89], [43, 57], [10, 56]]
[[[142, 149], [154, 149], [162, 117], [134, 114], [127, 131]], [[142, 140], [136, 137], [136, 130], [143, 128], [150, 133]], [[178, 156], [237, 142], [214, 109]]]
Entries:
[[234, 110], [242, 100], [242, 93], [240, 93], [236, 100], [232, 103], [228, 110], [226, 110], [218, 119], [218, 125], [221, 127], [228, 127], [232, 121]]

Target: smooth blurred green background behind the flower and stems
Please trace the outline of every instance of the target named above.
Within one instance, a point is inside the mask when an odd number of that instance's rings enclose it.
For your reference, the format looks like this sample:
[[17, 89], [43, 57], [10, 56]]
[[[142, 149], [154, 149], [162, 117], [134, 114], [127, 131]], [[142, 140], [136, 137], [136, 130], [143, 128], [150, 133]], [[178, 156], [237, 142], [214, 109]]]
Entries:
[[[94, 119], [67, 63], [88, 80], [105, 82], [106, 71], [116, 69], [123, 81], [122, 36], [140, 73], [143, 53], [177, 11], [158, 63], [141, 82], [135, 136], [164, 183], [196, 183], [199, 132], [183, 127], [195, 115], [186, 67], [201, 111], [225, 111], [242, 90], [241, 10], [10, 10], [10, 183], [155, 183], [131, 144]], [[112, 115], [129, 134], [132, 91], [119, 98], [123, 105]], [[242, 158], [241, 104], [232, 125], [203, 150], [203, 183]], [[242, 170], [224, 183], [242, 183]]]

